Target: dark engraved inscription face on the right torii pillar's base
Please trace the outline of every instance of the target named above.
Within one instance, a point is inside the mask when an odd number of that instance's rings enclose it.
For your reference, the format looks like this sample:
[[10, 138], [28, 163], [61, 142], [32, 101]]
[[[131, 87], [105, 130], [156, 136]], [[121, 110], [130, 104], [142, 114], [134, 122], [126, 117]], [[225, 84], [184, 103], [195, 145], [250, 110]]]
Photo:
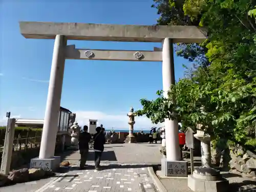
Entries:
[[168, 177], [187, 177], [187, 162], [169, 162], [167, 161]]

